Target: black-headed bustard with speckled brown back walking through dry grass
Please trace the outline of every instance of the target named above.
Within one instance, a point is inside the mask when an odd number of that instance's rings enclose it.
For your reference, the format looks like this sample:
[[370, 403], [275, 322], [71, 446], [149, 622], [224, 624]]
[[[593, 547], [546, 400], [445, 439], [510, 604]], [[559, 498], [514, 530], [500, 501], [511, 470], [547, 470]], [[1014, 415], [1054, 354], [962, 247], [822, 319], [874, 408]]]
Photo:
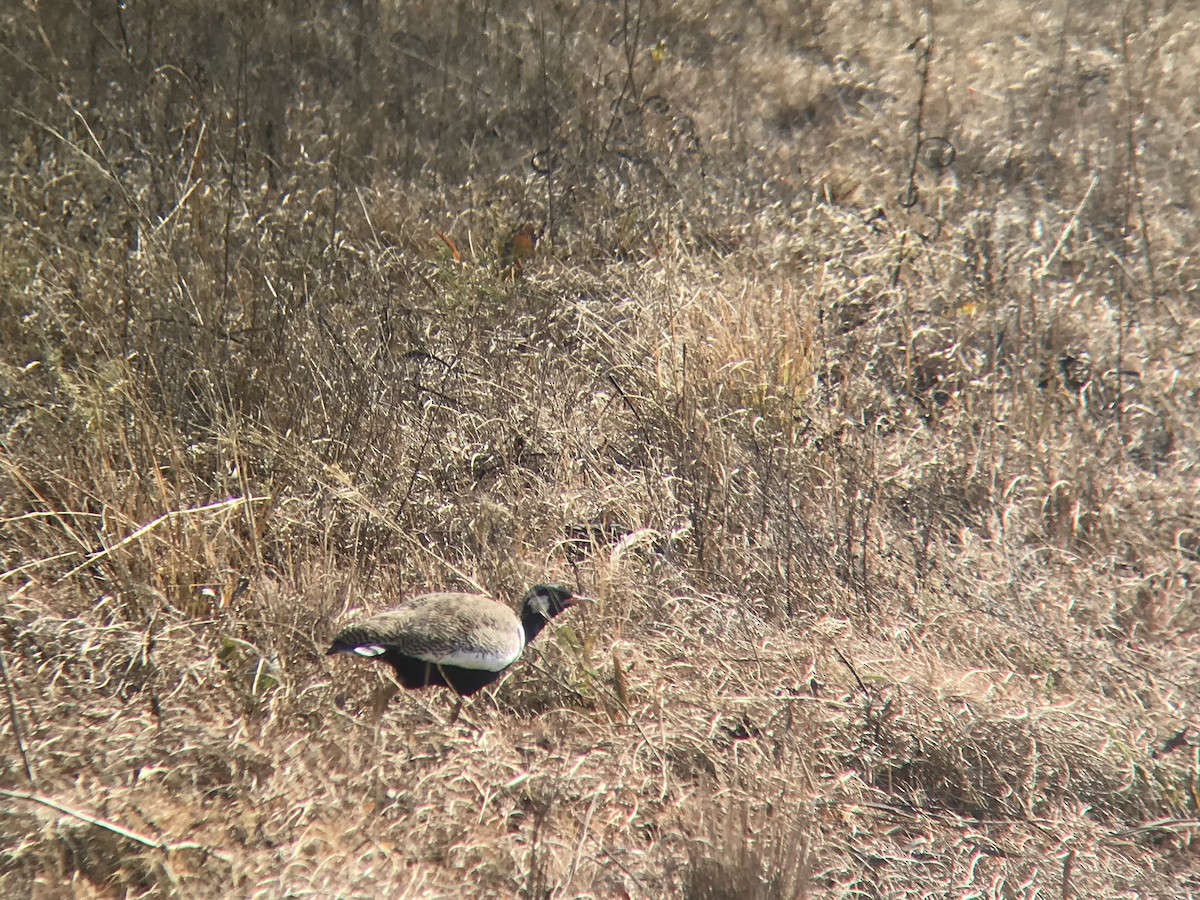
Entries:
[[486, 594], [421, 594], [342, 629], [326, 655], [378, 659], [408, 690], [444, 686], [468, 697], [503, 676], [552, 618], [584, 600], [562, 584], [535, 584], [518, 616]]

